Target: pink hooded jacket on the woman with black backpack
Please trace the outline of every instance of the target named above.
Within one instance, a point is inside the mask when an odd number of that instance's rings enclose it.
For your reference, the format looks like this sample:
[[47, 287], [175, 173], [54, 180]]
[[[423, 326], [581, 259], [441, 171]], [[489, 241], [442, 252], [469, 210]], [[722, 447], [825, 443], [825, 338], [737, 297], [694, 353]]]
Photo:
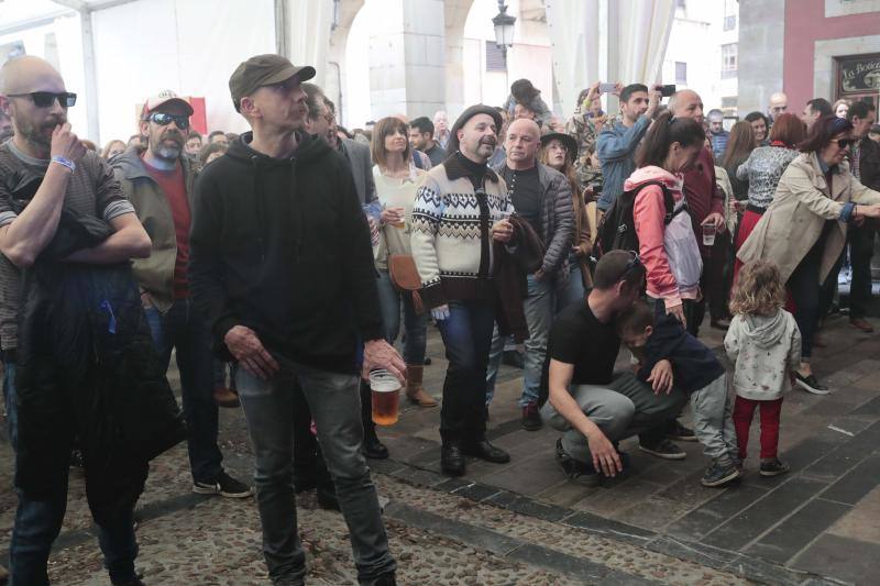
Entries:
[[[624, 190], [631, 191], [647, 183], [666, 185], [672, 192], [675, 209], [685, 203], [681, 178], [661, 167], [636, 169], [624, 183]], [[648, 270], [648, 295], [662, 299], [666, 307], [670, 308], [681, 305], [682, 299], [696, 299], [702, 261], [686, 211], [679, 213], [669, 224], [666, 223], [666, 214], [663, 190], [659, 186], [648, 186], [636, 196], [632, 221], [639, 237], [639, 256]], [[689, 230], [683, 230], [685, 225]], [[674, 232], [668, 235], [667, 231], [673, 229]], [[682, 278], [684, 274], [689, 278]]]

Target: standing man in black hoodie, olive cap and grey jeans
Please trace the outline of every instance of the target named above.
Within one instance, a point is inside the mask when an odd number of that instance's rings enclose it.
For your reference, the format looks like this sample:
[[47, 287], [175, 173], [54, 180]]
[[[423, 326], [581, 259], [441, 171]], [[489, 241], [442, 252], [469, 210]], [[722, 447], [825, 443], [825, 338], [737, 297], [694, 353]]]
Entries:
[[278, 55], [252, 57], [232, 74], [232, 101], [253, 130], [196, 183], [188, 283], [218, 357], [240, 366], [273, 583], [295, 586], [306, 576], [293, 475], [294, 397], [301, 392], [349, 527], [358, 582], [394, 586], [397, 566], [361, 452], [359, 388], [361, 375], [376, 368], [404, 383], [406, 364], [384, 338], [351, 167], [322, 136], [305, 132], [300, 82], [314, 75]]

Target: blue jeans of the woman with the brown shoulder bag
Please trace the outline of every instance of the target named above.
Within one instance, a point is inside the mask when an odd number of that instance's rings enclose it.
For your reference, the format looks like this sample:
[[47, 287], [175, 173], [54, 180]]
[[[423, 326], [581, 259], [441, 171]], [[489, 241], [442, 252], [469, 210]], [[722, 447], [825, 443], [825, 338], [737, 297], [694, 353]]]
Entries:
[[407, 364], [421, 366], [425, 363], [425, 346], [428, 343], [428, 312], [416, 313], [413, 295], [397, 290], [387, 270], [378, 272], [378, 302], [382, 322], [385, 325], [385, 340], [394, 344], [400, 332], [400, 305], [404, 306], [404, 360]]

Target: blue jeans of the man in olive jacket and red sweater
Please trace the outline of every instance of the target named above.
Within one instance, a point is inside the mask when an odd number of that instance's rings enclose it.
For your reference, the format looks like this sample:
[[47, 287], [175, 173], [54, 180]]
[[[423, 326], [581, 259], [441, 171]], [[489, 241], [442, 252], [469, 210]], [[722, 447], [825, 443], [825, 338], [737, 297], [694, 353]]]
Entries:
[[187, 450], [193, 480], [213, 484], [222, 472], [217, 446], [218, 408], [213, 400], [213, 357], [208, 327], [188, 299], [178, 299], [165, 313], [144, 309], [153, 344], [165, 369], [176, 350], [180, 395], [187, 423]]

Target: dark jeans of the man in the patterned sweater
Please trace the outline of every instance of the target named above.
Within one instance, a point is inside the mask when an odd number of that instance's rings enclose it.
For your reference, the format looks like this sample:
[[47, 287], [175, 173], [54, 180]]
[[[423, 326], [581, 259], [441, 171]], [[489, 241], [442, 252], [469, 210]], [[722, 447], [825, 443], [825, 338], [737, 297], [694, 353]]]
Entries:
[[486, 301], [450, 301], [449, 318], [437, 322], [447, 350], [440, 436], [477, 441], [486, 431], [486, 366], [495, 308]]

